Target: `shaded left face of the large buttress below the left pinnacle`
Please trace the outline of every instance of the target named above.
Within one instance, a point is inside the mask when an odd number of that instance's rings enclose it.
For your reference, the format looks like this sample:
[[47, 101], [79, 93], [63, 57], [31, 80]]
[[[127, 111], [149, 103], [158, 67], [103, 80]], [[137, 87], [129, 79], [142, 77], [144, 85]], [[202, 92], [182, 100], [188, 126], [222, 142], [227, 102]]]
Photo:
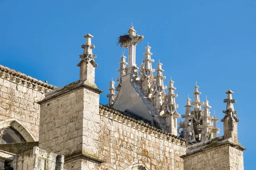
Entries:
[[77, 89], [41, 104], [40, 148], [65, 156], [82, 152], [83, 98]]

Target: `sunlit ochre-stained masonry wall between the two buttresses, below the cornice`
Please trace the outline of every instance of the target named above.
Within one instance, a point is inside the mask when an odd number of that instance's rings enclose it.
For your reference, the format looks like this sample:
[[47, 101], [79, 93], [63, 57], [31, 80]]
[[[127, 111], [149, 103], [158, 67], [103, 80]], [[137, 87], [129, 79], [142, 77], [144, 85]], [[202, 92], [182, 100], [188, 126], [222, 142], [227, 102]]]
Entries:
[[186, 147], [178, 139], [160, 138], [163, 134], [116, 121], [115, 116], [102, 114], [100, 118], [99, 159], [105, 161], [101, 170], [124, 170], [134, 164], [149, 170], [183, 170], [180, 156]]

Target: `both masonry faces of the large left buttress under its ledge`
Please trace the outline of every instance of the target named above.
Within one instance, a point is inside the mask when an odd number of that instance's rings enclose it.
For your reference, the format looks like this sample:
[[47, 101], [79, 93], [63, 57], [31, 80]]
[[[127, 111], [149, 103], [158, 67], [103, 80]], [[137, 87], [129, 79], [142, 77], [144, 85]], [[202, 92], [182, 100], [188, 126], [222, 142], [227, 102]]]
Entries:
[[[62, 87], [59, 91], [67, 92], [42, 101], [39, 147], [66, 158], [81, 153], [97, 157], [99, 94], [83, 85], [73, 90], [72, 86]], [[52, 91], [49, 95], [56, 93]]]

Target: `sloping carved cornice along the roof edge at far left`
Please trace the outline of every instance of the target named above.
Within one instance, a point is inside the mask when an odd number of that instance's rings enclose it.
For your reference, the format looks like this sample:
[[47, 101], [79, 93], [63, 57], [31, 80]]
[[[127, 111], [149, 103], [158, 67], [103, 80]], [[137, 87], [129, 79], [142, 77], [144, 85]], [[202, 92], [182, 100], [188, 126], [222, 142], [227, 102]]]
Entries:
[[52, 86], [36, 78], [32, 78], [29, 75], [25, 75], [16, 70], [10, 69], [6, 66], [0, 65], [0, 77], [9, 81], [15, 82], [28, 88], [38, 90], [40, 92], [49, 92], [50, 90], [57, 89], [56, 86]]

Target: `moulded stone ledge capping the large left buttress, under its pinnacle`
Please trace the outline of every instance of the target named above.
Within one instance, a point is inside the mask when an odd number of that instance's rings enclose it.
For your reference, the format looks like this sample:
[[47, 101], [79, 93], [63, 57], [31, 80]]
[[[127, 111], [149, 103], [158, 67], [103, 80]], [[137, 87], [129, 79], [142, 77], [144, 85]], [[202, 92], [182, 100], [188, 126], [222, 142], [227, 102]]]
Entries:
[[47, 101], [47, 100], [49, 100], [51, 98], [54, 98], [54, 97], [56, 97], [58, 95], [62, 95], [64, 93], [70, 92], [71, 90], [74, 90], [74, 89], [77, 89], [77, 88], [86, 88], [86, 89], [88, 89], [88, 90], [90, 90], [92, 92], [98, 93], [98, 94], [104, 92], [101, 89], [98, 89], [98, 88], [95, 88], [93, 86], [87, 85], [84, 81], [80, 82], [80, 80], [78, 80], [78, 81], [70, 83], [70, 84], [68, 84], [66, 86], [62, 86], [62, 87], [60, 87], [58, 89], [54, 89], [54, 90], [48, 92], [45, 95], [45, 98], [43, 100], [38, 101], [38, 104], [41, 104], [44, 101]]

